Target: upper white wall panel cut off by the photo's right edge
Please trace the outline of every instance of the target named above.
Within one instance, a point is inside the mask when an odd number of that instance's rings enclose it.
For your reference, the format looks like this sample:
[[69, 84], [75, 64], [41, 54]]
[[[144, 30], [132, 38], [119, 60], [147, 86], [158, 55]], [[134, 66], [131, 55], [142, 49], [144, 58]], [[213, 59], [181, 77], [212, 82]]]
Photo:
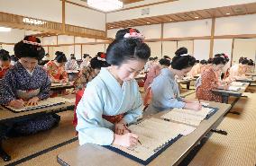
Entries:
[[256, 34], [256, 14], [217, 18], [215, 36]]

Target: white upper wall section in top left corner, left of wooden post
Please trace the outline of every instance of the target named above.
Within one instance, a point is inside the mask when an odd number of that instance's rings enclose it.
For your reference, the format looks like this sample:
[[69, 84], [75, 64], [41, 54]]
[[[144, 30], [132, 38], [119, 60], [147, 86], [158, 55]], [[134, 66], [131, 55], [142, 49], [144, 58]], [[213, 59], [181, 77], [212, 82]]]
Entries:
[[62, 22], [59, 0], [0, 0], [0, 11], [51, 22]]

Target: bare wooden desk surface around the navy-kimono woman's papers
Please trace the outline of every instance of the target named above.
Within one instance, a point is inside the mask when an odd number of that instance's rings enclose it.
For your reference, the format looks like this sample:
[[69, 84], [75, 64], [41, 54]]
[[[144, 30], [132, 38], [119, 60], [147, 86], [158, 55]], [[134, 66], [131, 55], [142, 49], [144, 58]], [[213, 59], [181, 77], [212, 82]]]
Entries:
[[[67, 99], [75, 98], [75, 95], [69, 94], [67, 96], [63, 96], [63, 98], [67, 98]], [[58, 106], [52, 106], [52, 107], [48, 107], [48, 108], [44, 108], [44, 109], [34, 109], [34, 110], [29, 110], [29, 111], [24, 111], [24, 112], [19, 112], [19, 113], [14, 113], [14, 112], [0, 106], [0, 121], [12, 119], [12, 118], [19, 118], [19, 117], [23, 117], [23, 116], [27, 116], [27, 115], [32, 115], [35, 113], [50, 112], [50, 111], [54, 112], [59, 109], [69, 109], [70, 107], [73, 107], [73, 106], [74, 106], [74, 103], [65, 102], [65, 104], [61, 104]]]

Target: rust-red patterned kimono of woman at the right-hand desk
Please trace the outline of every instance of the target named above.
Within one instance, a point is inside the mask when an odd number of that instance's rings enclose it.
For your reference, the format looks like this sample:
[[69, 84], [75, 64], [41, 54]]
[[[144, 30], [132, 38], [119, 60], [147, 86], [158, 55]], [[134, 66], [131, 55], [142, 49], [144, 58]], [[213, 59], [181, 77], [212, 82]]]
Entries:
[[222, 97], [212, 92], [213, 89], [218, 87], [219, 80], [217, 79], [216, 73], [213, 67], [207, 68], [201, 74], [201, 85], [197, 87], [196, 96], [199, 100], [212, 100], [221, 102]]

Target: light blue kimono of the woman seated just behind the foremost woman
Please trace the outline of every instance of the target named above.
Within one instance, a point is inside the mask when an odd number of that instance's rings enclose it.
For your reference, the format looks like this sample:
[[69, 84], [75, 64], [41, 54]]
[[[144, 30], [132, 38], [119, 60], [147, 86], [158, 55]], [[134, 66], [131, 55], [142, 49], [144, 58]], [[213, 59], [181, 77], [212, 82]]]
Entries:
[[164, 110], [185, 106], [185, 102], [179, 97], [178, 83], [174, 76], [168, 68], [163, 68], [160, 75], [154, 78], [151, 83], [153, 108]]

